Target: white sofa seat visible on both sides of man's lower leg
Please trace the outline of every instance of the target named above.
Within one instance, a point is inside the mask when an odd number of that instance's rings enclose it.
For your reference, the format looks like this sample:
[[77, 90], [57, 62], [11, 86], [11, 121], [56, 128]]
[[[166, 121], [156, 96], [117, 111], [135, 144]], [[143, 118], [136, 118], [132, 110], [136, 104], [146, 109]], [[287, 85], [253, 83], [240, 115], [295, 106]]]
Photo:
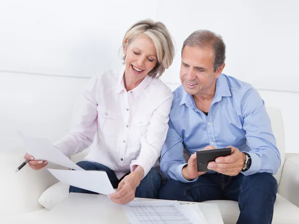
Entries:
[[[240, 215], [237, 202], [216, 200], [206, 201], [205, 203], [217, 204], [225, 224], [235, 224]], [[274, 205], [274, 215], [272, 224], [299, 224], [299, 208], [289, 202], [287, 199], [277, 194]]]

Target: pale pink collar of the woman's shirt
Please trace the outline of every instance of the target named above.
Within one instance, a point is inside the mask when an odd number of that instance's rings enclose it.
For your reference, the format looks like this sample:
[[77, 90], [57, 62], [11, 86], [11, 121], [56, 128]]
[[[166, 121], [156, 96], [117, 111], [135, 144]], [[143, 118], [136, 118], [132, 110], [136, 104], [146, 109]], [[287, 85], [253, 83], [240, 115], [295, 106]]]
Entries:
[[[117, 88], [116, 88], [117, 94], [121, 93], [122, 91], [127, 91], [124, 84], [125, 68], [126, 67], [124, 66], [119, 73], [119, 78], [118, 78]], [[142, 94], [142, 92], [146, 89], [146, 87], [149, 85], [152, 79], [153, 79], [152, 77], [149, 77], [147, 75], [146, 78], [144, 78], [144, 80], [135, 89], [130, 91], [130, 93], [132, 92], [135, 99], [137, 99]]]

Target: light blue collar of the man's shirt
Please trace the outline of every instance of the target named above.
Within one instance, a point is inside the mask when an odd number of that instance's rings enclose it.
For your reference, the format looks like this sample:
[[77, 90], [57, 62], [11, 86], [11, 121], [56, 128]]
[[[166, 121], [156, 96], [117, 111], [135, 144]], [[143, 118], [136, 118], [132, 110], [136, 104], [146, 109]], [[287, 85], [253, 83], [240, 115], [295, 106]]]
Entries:
[[[222, 97], [231, 97], [231, 96], [232, 96], [232, 94], [230, 92], [228, 83], [227, 83], [224, 75], [220, 74], [220, 76], [218, 77], [218, 79], [216, 81], [216, 91], [215, 91], [215, 96], [214, 96], [212, 104], [221, 101]], [[185, 104], [187, 107], [196, 108], [193, 97], [191, 95], [187, 94], [184, 90], [183, 90], [182, 99], [181, 99], [181, 102], [179, 105], [182, 105], [182, 104]]]

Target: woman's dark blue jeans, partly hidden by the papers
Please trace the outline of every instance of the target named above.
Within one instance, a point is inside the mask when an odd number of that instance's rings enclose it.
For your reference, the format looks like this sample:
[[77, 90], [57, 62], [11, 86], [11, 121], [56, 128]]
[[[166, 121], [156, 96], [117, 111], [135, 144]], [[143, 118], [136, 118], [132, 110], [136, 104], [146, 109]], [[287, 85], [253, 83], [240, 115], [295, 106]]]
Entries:
[[[117, 188], [120, 180], [116, 177], [114, 171], [109, 169], [107, 166], [104, 166], [100, 163], [90, 162], [90, 161], [80, 161], [77, 163], [78, 166], [84, 170], [102, 170], [105, 171], [108, 175], [108, 178], [113, 186]], [[158, 196], [158, 191], [162, 185], [162, 177], [158, 171], [154, 168], [151, 168], [148, 175], [142, 179], [140, 185], [137, 187], [135, 192], [135, 197], [137, 198], [152, 198], [156, 199]], [[85, 193], [85, 194], [98, 194], [92, 191], [85, 189], [77, 188], [70, 186], [69, 192], [75, 193]]]

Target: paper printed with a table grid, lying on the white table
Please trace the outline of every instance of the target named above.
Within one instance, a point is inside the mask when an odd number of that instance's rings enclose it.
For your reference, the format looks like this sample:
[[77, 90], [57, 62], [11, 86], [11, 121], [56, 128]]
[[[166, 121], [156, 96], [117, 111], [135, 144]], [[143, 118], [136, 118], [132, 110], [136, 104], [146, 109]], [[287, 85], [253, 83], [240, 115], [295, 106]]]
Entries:
[[177, 201], [133, 201], [124, 209], [131, 224], [197, 224], [180, 210]]

